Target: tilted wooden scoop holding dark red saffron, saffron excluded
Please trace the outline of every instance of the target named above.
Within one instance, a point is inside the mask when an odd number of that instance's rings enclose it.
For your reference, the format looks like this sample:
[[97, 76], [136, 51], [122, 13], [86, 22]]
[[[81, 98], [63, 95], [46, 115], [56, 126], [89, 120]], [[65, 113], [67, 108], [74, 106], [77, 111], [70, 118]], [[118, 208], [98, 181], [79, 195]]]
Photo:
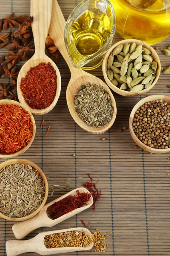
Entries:
[[67, 197], [68, 195], [77, 195], [77, 190], [79, 190], [80, 193], [90, 193], [88, 189], [85, 188], [78, 188], [74, 189], [71, 192], [68, 192], [65, 195], [62, 195], [61, 197], [57, 198], [54, 201], [51, 201], [50, 203], [46, 204], [40, 212], [35, 215], [33, 218], [27, 220], [27, 221], [22, 221], [19, 223], [16, 223], [12, 226], [12, 230], [14, 232], [14, 235], [16, 239], [23, 239], [25, 236], [27, 236], [31, 231], [39, 228], [39, 227], [53, 227], [54, 225], [78, 214], [79, 212], [84, 211], [85, 209], [91, 207], [93, 204], [93, 198], [91, 197], [91, 200], [89, 200], [83, 207], [77, 208], [73, 210], [72, 212], [69, 212], [68, 214], [62, 215], [61, 217], [52, 220], [51, 218], [48, 217], [48, 210], [47, 208], [54, 204], [55, 202], [58, 202], [59, 200]]

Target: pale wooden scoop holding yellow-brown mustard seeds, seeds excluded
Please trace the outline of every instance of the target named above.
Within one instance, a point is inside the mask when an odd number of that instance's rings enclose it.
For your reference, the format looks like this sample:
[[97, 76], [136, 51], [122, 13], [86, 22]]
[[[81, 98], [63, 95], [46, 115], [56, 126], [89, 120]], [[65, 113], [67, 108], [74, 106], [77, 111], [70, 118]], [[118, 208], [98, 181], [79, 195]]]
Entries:
[[17, 256], [21, 253], [33, 252], [33, 253], [39, 253], [41, 255], [51, 255], [51, 254], [91, 250], [94, 246], [94, 243], [92, 243], [91, 245], [88, 245], [87, 247], [62, 247], [62, 248], [51, 248], [51, 249], [48, 249], [45, 247], [45, 244], [44, 244], [45, 236], [52, 235], [54, 233], [62, 233], [62, 232], [73, 231], [73, 230], [86, 232], [91, 237], [91, 232], [84, 227], [75, 227], [75, 228], [64, 229], [64, 230], [51, 230], [48, 232], [39, 233], [37, 236], [29, 240], [7, 241], [6, 254], [7, 256]]

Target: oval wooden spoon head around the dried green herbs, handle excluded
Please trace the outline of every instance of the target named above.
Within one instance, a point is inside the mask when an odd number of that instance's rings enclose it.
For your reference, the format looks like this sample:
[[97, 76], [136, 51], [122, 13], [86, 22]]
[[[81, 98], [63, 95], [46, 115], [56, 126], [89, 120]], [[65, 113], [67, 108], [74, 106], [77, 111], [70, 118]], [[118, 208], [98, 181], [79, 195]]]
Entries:
[[[76, 112], [76, 110], [74, 108], [75, 94], [77, 93], [77, 90], [79, 90], [80, 85], [88, 84], [88, 83], [93, 84], [94, 82], [96, 84], [100, 84], [100, 86], [104, 87], [104, 89], [110, 94], [111, 101], [112, 101], [112, 106], [114, 108], [114, 110], [113, 110], [113, 117], [111, 119], [111, 122], [109, 122], [108, 124], [103, 125], [101, 127], [98, 127], [98, 128], [86, 125], [85, 122], [83, 122], [82, 119], [79, 118], [79, 116], [78, 116], [78, 114], [77, 114], [77, 112]], [[115, 99], [113, 97], [113, 94], [111, 93], [111, 90], [109, 89], [107, 84], [105, 84], [99, 78], [94, 77], [93, 75], [90, 75], [90, 76], [86, 75], [86, 76], [81, 76], [81, 77], [77, 78], [76, 82], [72, 83], [70, 86], [67, 87], [66, 98], [67, 98], [68, 109], [69, 109], [69, 111], [71, 113], [71, 116], [73, 117], [74, 121], [82, 129], [84, 129], [85, 131], [88, 131], [89, 133], [92, 133], [92, 134], [102, 134], [102, 133], [108, 131], [108, 129], [111, 128], [111, 126], [113, 125], [113, 123], [114, 123], [114, 121], [116, 119], [116, 114], [117, 114], [116, 102], [115, 102]]]

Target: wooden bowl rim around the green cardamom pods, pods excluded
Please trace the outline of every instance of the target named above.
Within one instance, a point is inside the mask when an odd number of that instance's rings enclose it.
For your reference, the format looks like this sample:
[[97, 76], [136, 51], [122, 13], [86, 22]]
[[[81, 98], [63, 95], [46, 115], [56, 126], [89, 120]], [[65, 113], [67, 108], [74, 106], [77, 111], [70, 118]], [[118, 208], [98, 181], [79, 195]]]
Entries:
[[[130, 93], [128, 91], [125, 91], [125, 90], [121, 90], [119, 89], [118, 87], [116, 87], [114, 84], [112, 84], [112, 82], [108, 79], [108, 76], [107, 76], [107, 63], [108, 63], [108, 57], [109, 55], [111, 54], [111, 52], [113, 51], [114, 48], [116, 48], [119, 44], [132, 44], [133, 42], [136, 43], [136, 45], [139, 45], [139, 44], [142, 44], [143, 47], [147, 48], [150, 50], [151, 52], [151, 56], [153, 57], [153, 59], [158, 63], [158, 67], [157, 67], [157, 70], [156, 70], [156, 78], [155, 80], [153, 81], [152, 85], [147, 88], [147, 89], [143, 89], [141, 90], [139, 93]], [[144, 93], [147, 93], [150, 89], [153, 88], [153, 86], [156, 84], [156, 82], [158, 81], [159, 79], [159, 75], [160, 75], [160, 72], [161, 72], [161, 62], [160, 62], [160, 59], [159, 59], [159, 56], [158, 54], [156, 53], [156, 51], [147, 43], [144, 43], [143, 41], [140, 41], [140, 40], [136, 40], [136, 39], [126, 39], [126, 40], [122, 40], [122, 41], [119, 41], [117, 42], [116, 44], [113, 44], [111, 46], [111, 48], [108, 50], [108, 52], [105, 54], [105, 57], [104, 57], [104, 60], [103, 60], [103, 65], [102, 65], [102, 70], [103, 70], [103, 76], [105, 78], [105, 81], [106, 81], [106, 84], [108, 84], [108, 86], [115, 92], [115, 93], [118, 93], [122, 96], [127, 96], [127, 97], [130, 97], [130, 96], [137, 96], [137, 95], [142, 95]]]

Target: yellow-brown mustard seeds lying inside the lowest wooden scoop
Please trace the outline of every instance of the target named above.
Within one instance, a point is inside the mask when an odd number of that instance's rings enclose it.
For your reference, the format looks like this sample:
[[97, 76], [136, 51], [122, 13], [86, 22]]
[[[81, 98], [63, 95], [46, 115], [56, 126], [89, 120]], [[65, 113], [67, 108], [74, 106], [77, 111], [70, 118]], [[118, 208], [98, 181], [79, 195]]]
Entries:
[[54, 233], [44, 237], [46, 248], [87, 247], [92, 243], [93, 239], [86, 232], [79, 230]]

